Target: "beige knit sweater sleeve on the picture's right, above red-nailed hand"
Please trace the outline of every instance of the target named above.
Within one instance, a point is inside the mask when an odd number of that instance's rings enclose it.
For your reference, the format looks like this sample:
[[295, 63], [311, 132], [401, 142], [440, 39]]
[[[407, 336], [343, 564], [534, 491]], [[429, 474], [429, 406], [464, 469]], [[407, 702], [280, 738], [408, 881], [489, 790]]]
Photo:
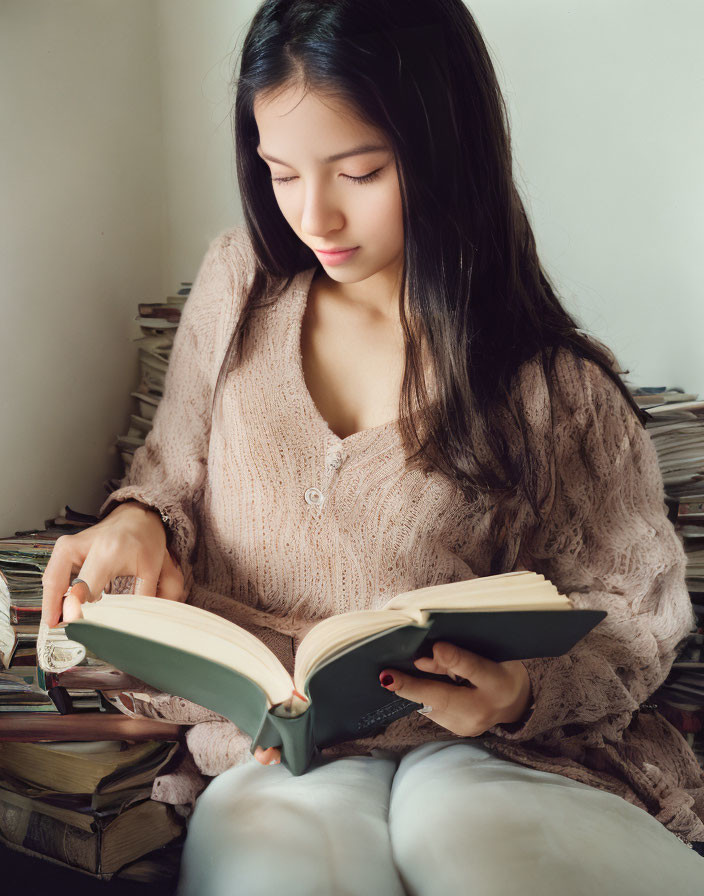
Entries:
[[564, 656], [524, 660], [532, 712], [487, 733], [601, 746], [665, 680], [694, 615], [649, 433], [596, 363], [556, 369], [569, 400], [553, 411], [552, 505], [524, 556], [575, 607], [607, 616]]

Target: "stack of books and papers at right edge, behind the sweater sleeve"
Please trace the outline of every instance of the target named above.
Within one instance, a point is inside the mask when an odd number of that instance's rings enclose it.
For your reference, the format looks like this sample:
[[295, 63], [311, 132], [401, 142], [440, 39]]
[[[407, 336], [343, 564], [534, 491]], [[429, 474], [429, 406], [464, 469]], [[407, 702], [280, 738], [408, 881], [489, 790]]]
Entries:
[[704, 767], [704, 400], [678, 388], [624, 379], [658, 456], [668, 513], [685, 553], [695, 623], [651, 702], [685, 736]]

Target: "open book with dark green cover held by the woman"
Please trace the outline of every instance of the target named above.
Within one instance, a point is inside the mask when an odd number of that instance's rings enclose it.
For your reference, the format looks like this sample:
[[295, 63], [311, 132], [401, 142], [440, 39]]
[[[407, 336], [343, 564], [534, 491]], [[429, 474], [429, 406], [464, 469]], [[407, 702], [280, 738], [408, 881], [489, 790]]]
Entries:
[[446, 680], [413, 665], [450, 641], [496, 662], [559, 656], [600, 622], [544, 576], [478, 577], [398, 594], [379, 610], [331, 616], [302, 639], [291, 677], [257, 637], [189, 604], [103, 594], [65, 625], [74, 642], [153, 687], [220, 713], [257, 745], [280, 747], [301, 774], [322, 747], [367, 737], [418, 709], [386, 691], [393, 667]]

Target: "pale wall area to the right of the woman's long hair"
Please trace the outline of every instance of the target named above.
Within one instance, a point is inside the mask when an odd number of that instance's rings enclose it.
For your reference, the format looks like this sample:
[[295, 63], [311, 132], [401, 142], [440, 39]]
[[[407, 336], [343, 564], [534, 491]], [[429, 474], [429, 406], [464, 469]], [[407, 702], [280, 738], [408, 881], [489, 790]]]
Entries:
[[509, 102], [538, 251], [642, 385], [704, 397], [704, 4], [468, 3]]

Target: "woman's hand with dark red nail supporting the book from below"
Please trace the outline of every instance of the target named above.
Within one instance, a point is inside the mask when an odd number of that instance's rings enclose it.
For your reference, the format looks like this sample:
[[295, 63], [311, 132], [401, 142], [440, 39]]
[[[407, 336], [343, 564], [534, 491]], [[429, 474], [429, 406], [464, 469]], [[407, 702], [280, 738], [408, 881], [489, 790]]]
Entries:
[[520, 660], [495, 663], [447, 641], [436, 641], [433, 656], [414, 663], [422, 672], [453, 680], [416, 678], [396, 669], [383, 669], [379, 680], [387, 682], [391, 676], [393, 681], [384, 683], [387, 690], [431, 706], [432, 711], [424, 715], [458, 737], [478, 737], [494, 725], [516, 722], [532, 701], [528, 671]]

